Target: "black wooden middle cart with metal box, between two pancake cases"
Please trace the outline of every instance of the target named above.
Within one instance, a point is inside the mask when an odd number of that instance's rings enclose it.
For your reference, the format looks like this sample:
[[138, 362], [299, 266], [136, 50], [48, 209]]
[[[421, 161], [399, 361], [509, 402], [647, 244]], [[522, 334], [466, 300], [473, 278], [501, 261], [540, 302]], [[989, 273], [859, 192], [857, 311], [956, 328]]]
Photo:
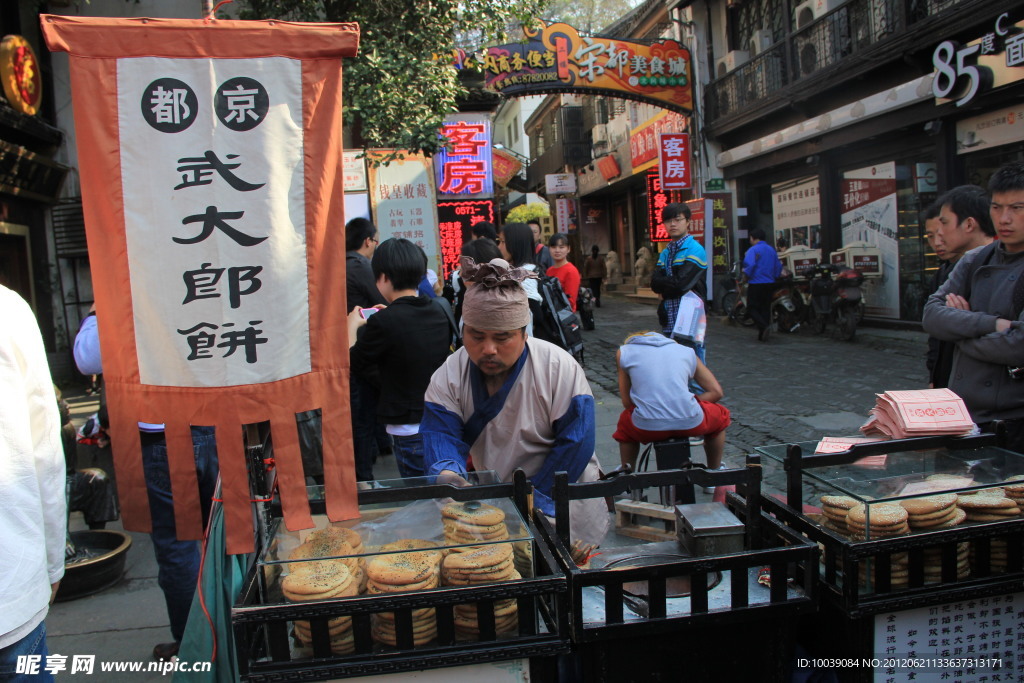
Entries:
[[[795, 614], [813, 611], [817, 547], [760, 509], [761, 469], [709, 472], [665, 470], [569, 483], [558, 475], [557, 528], [538, 516], [569, 582], [571, 667], [563, 681], [778, 680], [793, 655]], [[742, 552], [632, 568], [580, 568], [569, 552], [567, 508], [572, 500], [632, 489], [733, 484], [743, 498], [730, 507], [745, 523]], [[675, 546], [676, 544], [653, 544]], [[758, 577], [770, 571], [770, 587]], [[721, 583], [716, 584], [716, 575]], [[673, 580], [686, 578], [688, 597], [671, 597]], [[632, 587], [642, 586], [638, 601]]]

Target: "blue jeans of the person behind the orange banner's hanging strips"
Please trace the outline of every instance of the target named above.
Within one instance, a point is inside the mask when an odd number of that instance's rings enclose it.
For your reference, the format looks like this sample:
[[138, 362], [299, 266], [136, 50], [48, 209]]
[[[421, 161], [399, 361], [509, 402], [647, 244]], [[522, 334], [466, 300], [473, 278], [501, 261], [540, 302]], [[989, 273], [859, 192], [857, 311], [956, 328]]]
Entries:
[[[203, 505], [203, 525], [210, 518], [210, 505], [217, 483], [217, 443], [212, 427], [193, 427], [193, 455]], [[142, 468], [150, 492], [153, 516], [153, 549], [157, 554], [157, 583], [164, 592], [171, 636], [180, 642], [188, 622], [196, 582], [199, 578], [200, 544], [178, 541], [174, 525], [174, 499], [167, 464], [167, 441], [163, 433], [142, 434]]]

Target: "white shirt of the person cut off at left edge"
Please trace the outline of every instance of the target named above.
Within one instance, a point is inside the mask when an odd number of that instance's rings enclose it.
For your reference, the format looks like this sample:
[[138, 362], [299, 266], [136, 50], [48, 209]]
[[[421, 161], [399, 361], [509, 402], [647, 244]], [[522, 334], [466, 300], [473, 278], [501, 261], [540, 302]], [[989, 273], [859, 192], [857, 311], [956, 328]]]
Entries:
[[25, 300], [0, 286], [0, 648], [46, 616], [63, 577], [68, 511], [60, 416]]

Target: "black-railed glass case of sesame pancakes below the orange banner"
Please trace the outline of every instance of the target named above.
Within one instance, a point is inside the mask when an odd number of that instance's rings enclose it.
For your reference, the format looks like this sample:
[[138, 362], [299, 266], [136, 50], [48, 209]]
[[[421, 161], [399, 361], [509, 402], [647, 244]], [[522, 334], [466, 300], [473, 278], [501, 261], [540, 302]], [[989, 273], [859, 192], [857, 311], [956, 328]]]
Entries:
[[525, 477], [467, 481], [373, 482], [359, 518], [333, 523], [313, 487], [314, 528], [271, 516], [232, 609], [246, 677], [324, 658], [337, 660], [322, 672], [335, 678], [453, 666], [462, 648], [480, 661], [567, 648], [557, 632], [565, 578], [535, 542]]

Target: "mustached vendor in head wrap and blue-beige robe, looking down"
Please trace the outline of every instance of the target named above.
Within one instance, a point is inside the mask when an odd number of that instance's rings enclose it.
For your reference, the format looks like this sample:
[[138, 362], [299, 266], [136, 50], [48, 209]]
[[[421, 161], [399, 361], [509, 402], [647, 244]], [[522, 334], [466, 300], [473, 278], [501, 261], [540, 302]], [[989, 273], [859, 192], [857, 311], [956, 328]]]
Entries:
[[[463, 344], [434, 373], [420, 433], [432, 475], [478, 470], [507, 481], [522, 468], [535, 504], [554, 516], [555, 472], [570, 481], [598, 478], [594, 396], [580, 365], [564, 350], [527, 338], [529, 304], [521, 282], [530, 273], [503, 259], [463, 260], [469, 284], [463, 303]], [[604, 501], [573, 501], [573, 539], [600, 543], [608, 525]]]

